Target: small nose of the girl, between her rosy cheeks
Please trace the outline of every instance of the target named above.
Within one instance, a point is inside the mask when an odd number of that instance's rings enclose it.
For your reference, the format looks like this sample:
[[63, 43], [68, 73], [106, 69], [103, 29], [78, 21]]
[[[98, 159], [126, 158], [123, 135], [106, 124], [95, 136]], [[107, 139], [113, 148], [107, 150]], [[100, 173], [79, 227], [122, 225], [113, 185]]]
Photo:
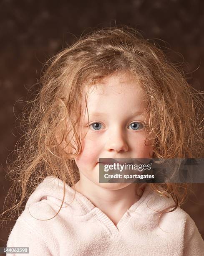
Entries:
[[117, 152], [128, 151], [128, 143], [125, 139], [123, 131], [121, 131], [121, 128], [114, 129], [111, 131], [111, 133], [108, 134], [106, 150]]

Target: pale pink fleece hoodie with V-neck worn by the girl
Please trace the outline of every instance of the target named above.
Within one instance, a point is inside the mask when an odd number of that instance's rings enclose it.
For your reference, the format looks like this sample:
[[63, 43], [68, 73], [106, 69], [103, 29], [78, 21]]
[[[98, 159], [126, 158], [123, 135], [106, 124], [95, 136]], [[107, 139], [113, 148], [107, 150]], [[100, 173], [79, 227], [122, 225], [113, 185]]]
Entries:
[[[181, 208], [164, 213], [158, 225], [159, 213], [154, 210], [174, 202], [152, 192], [148, 185], [116, 226], [81, 193], [76, 192], [71, 202], [73, 194], [66, 185], [65, 202], [56, 215], [63, 199], [63, 182], [54, 177], [44, 179], [30, 195], [7, 247], [29, 247], [30, 256], [204, 255], [204, 241]], [[48, 218], [52, 219], [42, 220]]]

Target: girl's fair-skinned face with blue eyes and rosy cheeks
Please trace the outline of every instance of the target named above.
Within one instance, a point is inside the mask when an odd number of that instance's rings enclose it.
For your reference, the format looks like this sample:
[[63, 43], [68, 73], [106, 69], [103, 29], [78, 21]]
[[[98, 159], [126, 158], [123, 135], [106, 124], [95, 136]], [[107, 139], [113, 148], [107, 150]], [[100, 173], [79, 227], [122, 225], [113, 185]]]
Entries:
[[109, 189], [128, 186], [99, 183], [99, 158], [151, 158], [152, 146], [144, 144], [147, 134], [142, 125], [147, 117], [146, 102], [137, 80], [124, 73], [106, 77], [88, 90], [87, 108], [88, 114], [84, 102], [82, 152], [75, 158], [80, 179]]

